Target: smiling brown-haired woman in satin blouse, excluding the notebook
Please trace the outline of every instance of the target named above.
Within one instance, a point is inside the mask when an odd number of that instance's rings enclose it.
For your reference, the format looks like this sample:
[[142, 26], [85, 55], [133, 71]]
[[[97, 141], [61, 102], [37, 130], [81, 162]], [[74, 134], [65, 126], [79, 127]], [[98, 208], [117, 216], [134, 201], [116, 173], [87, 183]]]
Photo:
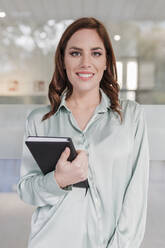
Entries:
[[[80, 18], [64, 32], [49, 86], [50, 106], [28, 116], [25, 139], [70, 136], [78, 155], [61, 154], [41, 173], [24, 145], [20, 198], [34, 206], [29, 248], [138, 248], [147, 209], [148, 140], [141, 106], [119, 100], [107, 31]], [[89, 190], [72, 184], [88, 178]]]

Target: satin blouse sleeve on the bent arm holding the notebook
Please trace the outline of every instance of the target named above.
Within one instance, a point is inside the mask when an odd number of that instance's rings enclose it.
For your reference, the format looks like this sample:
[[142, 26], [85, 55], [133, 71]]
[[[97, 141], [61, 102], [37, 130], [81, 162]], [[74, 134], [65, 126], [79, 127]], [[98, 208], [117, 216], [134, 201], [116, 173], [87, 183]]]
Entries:
[[34, 120], [29, 121], [27, 118], [17, 193], [21, 200], [37, 207], [55, 205], [69, 193], [71, 186], [60, 188], [55, 180], [54, 171], [44, 175], [33, 159], [25, 145], [25, 140], [30, 135], [37, 135], [37, 125], [34, 123]]

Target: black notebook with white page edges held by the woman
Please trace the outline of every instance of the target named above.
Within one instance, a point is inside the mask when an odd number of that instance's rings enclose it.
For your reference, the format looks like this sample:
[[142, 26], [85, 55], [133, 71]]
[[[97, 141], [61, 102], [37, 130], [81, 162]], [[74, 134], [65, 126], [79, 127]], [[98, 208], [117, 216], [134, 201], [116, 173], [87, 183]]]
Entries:
[[[77, 152], [70, 137], [29, 136], [25, 141], [43, 174], [55, 170], [56, 163], [65, 147], [70, 148], [68, 161], [77, 156]], [[73, 184], [74, 187], [89, 187], [88, 180]]]

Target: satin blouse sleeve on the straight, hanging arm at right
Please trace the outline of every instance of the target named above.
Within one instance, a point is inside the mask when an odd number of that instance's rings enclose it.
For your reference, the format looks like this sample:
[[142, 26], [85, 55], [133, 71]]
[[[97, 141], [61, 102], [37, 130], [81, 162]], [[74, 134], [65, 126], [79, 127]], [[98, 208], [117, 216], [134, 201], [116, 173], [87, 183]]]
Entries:
[[114, 235], [107, 248], [139, 248], [144, 237], [149, 181], [149, 147], [143, 109], [139, 104], [137, 108], [132, 176], [125, 191]]

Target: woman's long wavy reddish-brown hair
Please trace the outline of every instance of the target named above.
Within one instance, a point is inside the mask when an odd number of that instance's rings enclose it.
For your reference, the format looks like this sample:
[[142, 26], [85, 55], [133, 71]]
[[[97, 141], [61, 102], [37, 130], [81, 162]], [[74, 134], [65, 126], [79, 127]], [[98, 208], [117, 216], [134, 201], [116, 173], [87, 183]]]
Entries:
[[51, 103], [51, 110], [43, 116], [42, 120], [48, 119], [57, 111], [61, 102], [60, 96], [65, 89], [67, 90], [66, 100], [73, 92], [72, 84], [69, 82], [64, 69], [64, 53], [67, 42], [71, 36], [76, 31], [83, 28], [95, 29], [105, 46], [107, 67], [101, 79], [100, 88], [102, 88], [105, 94], [109, 97], [111, 102], [110, 108], [119, 114], [122, 121], [122, 114], [119, 110], [121, 106], [118, 99], [119, 84], [117, 83], [116, 59], [112, 44], [104, 25], [93, 17], [83, 17], [74, 21], [67, 27], [58, 43], [55, 54], [55, 71], [50, 82], [48, 92], [48, 97]]

